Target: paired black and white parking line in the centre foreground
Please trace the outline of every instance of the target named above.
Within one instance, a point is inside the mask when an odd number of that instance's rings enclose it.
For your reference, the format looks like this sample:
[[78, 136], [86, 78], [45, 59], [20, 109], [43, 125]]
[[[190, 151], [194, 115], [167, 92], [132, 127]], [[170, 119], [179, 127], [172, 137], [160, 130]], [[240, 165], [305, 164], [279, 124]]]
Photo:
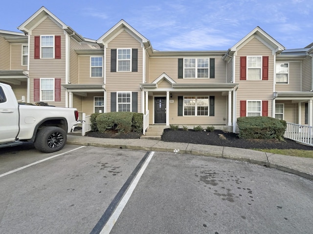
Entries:
[[[117, 221], [119, 215], [122, 213], [129, 198], [134, 192], [134, 189], [139, 182], [143, 172], [146, 170], [152, 156], [155, 152], [147, 152], [140, 160], [131, 176], [112, 200], [110, 206], [102, 215], [98, 223], [92, 229], [90, 234], [109, 234]], [[125, 195], [124, 195], [125, 194]]]

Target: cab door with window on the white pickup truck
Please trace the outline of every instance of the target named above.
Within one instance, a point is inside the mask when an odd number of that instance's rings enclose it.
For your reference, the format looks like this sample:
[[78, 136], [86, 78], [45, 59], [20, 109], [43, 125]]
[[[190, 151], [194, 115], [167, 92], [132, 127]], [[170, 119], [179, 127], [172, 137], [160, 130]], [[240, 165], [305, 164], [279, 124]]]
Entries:
[[10, 91], [13, 93], [11, 87], [0, 86], [0, 143], [14, 141], [19, 131], [18, 105], [13, 102], [16, 98], [12, 99]]

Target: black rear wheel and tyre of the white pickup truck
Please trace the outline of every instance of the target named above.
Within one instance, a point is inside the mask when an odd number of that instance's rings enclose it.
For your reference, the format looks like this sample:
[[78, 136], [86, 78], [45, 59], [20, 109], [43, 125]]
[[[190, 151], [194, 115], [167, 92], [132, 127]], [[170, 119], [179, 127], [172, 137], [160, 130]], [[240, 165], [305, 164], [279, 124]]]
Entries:
[[67, 133], [59, 127], [45, 127], [40, 130], [34, 142], [36, 150], [52, 153], [61, 150], [67, 142]]

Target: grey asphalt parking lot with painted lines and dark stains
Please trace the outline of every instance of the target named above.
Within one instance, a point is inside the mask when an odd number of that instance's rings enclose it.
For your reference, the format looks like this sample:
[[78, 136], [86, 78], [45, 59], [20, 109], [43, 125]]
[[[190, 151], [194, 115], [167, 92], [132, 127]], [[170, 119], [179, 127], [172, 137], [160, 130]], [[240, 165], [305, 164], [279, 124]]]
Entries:
[[0, 233], [311, 233], [313, 181], [204, 156], [0, 149]]

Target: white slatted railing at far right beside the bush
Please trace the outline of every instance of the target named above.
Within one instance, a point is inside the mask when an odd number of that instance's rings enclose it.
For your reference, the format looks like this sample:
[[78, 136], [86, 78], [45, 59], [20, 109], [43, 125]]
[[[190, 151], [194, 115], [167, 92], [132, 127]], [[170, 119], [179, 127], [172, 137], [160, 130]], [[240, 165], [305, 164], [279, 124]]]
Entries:
[[313, 145], [313, 127], [287, 123], [284, 137], [304, 144]]

